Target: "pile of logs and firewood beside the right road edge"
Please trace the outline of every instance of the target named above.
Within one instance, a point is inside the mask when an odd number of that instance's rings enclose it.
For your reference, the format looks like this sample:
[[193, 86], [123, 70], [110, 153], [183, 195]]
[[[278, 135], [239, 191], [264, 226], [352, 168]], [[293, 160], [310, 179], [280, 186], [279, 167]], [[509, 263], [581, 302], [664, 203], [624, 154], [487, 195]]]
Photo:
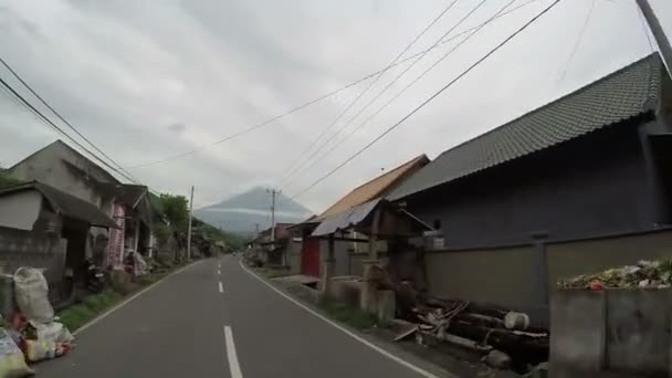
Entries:
[[531, 327], [526, 314], [430, 297], [405, 317], [405, 329], [396, 342], [414, 336], [427, 346], [448, 343], [481, 355], [497, 368], [548, 360], [548, 330]]

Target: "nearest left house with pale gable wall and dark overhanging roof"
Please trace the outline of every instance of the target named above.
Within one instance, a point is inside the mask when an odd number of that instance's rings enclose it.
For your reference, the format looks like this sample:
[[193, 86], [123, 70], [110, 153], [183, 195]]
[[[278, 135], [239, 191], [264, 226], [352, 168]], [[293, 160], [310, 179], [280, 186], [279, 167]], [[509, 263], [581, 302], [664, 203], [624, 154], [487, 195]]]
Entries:
[[23, 265], [45, 267], [55, 287], [66, 270], [76, 280], [92, 227], [117, 224], [92, 203], [39, 181], [0, 189], [0, 255], [10, 272]]

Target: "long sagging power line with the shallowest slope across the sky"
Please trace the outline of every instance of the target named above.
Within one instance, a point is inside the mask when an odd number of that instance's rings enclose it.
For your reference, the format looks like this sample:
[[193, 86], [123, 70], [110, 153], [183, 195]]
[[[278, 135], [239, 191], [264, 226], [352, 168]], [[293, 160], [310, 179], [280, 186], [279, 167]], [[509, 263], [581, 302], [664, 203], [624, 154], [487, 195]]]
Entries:
[[[527, 7], [527, 6], [529, 6], [529, 4], [534, 3], [534, 2], [537, 2], [537, 1], [539, 1], [539, 0], [528, 0], [527, 2], [525, 2], [525, 3], [523, 3], [523, 4], [518, 6], [518, 7], [515, 7], [515, 8], [511, 9], [511, 10], [510, 10], [510, 11], [507, 11], [507, 12], [504, 12], [504, 13], [500, 14], [500, 17], [497, 17], [497, 19], [498, 19], [498, 18], [501, 18], [501, 17], [504, 17], [504, 15], [511, 14], [511, 13], [513, 13], [513, 12], [515, 12], [515, 11], [517, 11], [517, 10], [519, 10], [519, 9], [522, 9], [522, 8], [524, 8], [524, 7]], [[493, 20], [493, 21], [494, 21], [494, 20]], [[417, 57], [418, 55], [421, 55], [421, 54], [426, 53], [427, 51], [430, 51], [430, 50], [435, 49], [435, 48], [439, 48], [440, 45], [443, 45], [443, 44], [445, 44], [445, 43], [448, 43], [448, 42], [451, 42], [451, 41], [453, 41], [453, 40], [455, 40], [455, 39], [458, 39], [458, 38], [460, 38], [460, 36], [464, 35], [464, 34], [469, 33], [470, 31], [472, 31], [472, 30], [474, 30], [474, 29], [476, 29], [476, 28], [479, 28], [479, 25], [477, 25], [477, 27], [470, 28], [470, 29], [466, 29], [466, 30], [464, 30], [463, 32], [460, 32], [460, 33], [458, 33], [458, 34], [455, 34], [455, 35], [453, 35], [453, 36], [451, 36], [451, 38], [447, 39], [445, 41], [441, 42], [441, 43], [440, 43], [439, 45], [437, 45], [437, 46], [432, 46], [432, 48], [430, 48], [430, 49], [428, 49], [428, 50], [424, 50], [424, 51], [421, 51], [421, 52], [419, 52], [419, 53], [417, 53], [417, 54], [413, 54], [413, 55], [410, 55], [410, 56], [408, 56], [408, 57], [405, 57], [405, 59], [402, 59], [402, 60], [400, 60], [400, 61], [396, 62], [393, 65], [391, 65], [391, 66], [389, 66], [389, 67], [384, 67], [384, 69], [381, 69], [381, 70], [379, 70], [379, 71], [376, 71], [376, 72], [374, 72], [374, 73], [370, 73], [370, 74], [368, 74], [368, 75], [366, 75], [366, 76], [364, 76], [364, 77], [361, 77], [361, 78], [358, 78], [358, 80], [356, 80], [356, 81], [354, 81], [354, 82], [351, 82], [351, 83], [349, 83], [349, 84], [346, 84], [346, 85], [342, 86], [342, 87], [340, 87], [340, 88], [338, 88], [338, 90], [335, 90], [335, 91], [332, 91], [332, 92], [329, 92], [329, 93], [323, 94], [323, 95], [321, 95], [321, 96], [318, 96], [318, 97], [316, 97], [316, 98], [314, 98], [314, 99], [308, 101], [307, 103], [304, 103], [303, 105], [298, 105], [298, 106], [296, 106], [296, 107], [294, 107], [294, 108], [292, 108], [292, 109], [290, 109], [290, 111], [286, 111], [285, 113], [281, 114], [281, 115], [274, 116], [274, 117], [269, 118], [269, 119], [266, 119], [266, 120], [264, 120], [264, 122], [262, 122], [262, 123], [260, 123], [260, 124], [256, 124], [256, 125], [250, 126], [250, 127], [248, 127], [248, 128], [245, 128], [245, 129], [242, 129], [242, 130], [240, 130], [240, 132], [238, 132], [238, 133], [234, 133], [234, 134], [231, 134], [231, 135], [229, 135], [229, 136], [225, 136], [225, 137], [223, 137], [223, 138], [221, 138], [221, 139], [219, 139], [219, 140], [216, 140], [216, 141], [213, 141], [213, 143], [209, 144], [209, 145], [200, 146], [200, 147], [197, 147], [197, 148], [195, 148], [195, 149], [192, 149], [192, 150], [185, 151], [185, 153], [177, 154], [177, 155], [172, 155], [172, 156], [169, 156], [169, 157], [166, 157], [166, 158], [159, 159], [159, 160], [154, 160], [154, 161], [148, 161], [148, 162], [144, 162], [144, 164], [140, 164], [140, 165], [129, 166], [129, 167], [127, 167], [127, 168], [145, 168], [145, 167], [149, 167], [149, 166], [154, 166], [154, 165], [165, 164], [165, 162], [168, 162], [168, 161], [171, 161], [171, 160], [176, 160], [176, 159], [179, 159], [179, 158], [182, 158], [182, 157], [189, 156], [189, 155], [197, 154], [197, 153], [199, 153], [199, 151], [201, 151], [201, 150], [204, 150], [204, 149], [207, 149], [207, 148], [214, 147], [214, 146], [220, 145], [220, 144], [222, 144], [222, 143], [224, 143], [224, 141], [228, 141], [228, 140], [231, 140], [231, 139], [237, 138], [237, 137], [239, 137], [239, 136], [242, 136], [242, 135], [245, 135], [245, 134], [248, 134], [248, 133], [254, 132], [254, 130], [256, 130], [256, 129], [259, 129], [259, 128], [261, 128], [261, 127], [263, 127], [263, 126], [266, 126], [266, 125], [269, 125], [269, 124], [271, 124], [271, 123], [273, 123], [273, 122], [275, 122], [275, 120], [277, 120], [277, 119], [281, 119], [281, 118], [283, 118], [283, 117], [286, 117], [286, 116], [288, 116], [288, 115], [292, 115], [292, 114], [294, 114], [294, 113], [296, 113], [296, 112], [298, 112], [298, 111], [302, 111], [302, 109], [304, 109], [304, 108], [306, 108], [306, 107], [308, 107], [308, 106], [311, 106], [311, 105], [313, 105], [313, 104], [316, 104], [316, 103], [318, 103], [318, 102], [321, 102], [321, 101], [323, 101], [323, 99], [326, 99], [326, 98], [328, 98], [328, 97], [332, 97], [332, 96], [334, 96], [334, 95], [336, 95], [336, 94], [338, 94], [338, 93], [340, 93], [340, 92], [343, 92], [343, 91], [346, 91], [346, 90], [348, 90], [348, 88], [350, 88], [350, 87], [353, 87], [353, 86], [356, 86], [356, 85], [358, 85], [358, 84], [361, 84], [361, 83], [364, 83], [364, 82], [368, 81], [369, 78], [375, 77], [376, 75], [380, 74], [380, 73], [381, 73], [381, 72], [384, 72], [384, 71], [387, 71], [387, 70], [389, 70], [389, 69], [391, 69], [391, 67], [395, 67], [395, 66], [398, 66], [398, 65], [400, 65], [400, 64], [403, 64], [403, 63], [406, 63], [406, 62], [408, 62], [408, 61], [412, 60], [413, 57]]]

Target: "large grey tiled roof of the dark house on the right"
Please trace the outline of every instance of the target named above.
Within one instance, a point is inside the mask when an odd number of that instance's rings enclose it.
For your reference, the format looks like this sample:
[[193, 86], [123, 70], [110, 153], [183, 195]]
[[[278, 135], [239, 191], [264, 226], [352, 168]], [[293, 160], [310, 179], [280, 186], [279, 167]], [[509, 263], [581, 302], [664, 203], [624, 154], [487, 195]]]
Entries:
[[664, 75], [660, 56], [649, 55], [449, 149], [388, 198], [398, 200], [654, 111]]

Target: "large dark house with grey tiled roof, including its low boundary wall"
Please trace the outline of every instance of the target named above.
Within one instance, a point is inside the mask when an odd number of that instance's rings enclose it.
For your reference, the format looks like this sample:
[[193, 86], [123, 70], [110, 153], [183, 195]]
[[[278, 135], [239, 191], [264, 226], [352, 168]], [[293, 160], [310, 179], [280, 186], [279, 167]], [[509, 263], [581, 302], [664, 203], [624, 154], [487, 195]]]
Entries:
[[671, 132], [652, 54], [447, 150], [387, 198], [441, 230], [432, 292], [543, 316], [560, 277], [669, 254]]

